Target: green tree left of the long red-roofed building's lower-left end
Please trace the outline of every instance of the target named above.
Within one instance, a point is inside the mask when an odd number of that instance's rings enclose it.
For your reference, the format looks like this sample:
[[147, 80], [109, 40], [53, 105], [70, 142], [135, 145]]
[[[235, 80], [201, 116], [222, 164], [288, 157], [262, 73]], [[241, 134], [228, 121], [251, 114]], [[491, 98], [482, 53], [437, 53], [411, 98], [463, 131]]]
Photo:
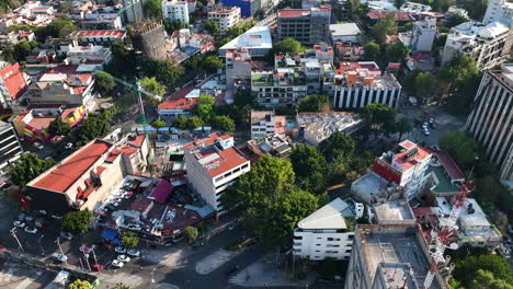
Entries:
[[23, 187], [54, 165], [54, 160], [42, 160], [35, 154], [22, 153], [20, 159], [11, 164], [11, 181]]

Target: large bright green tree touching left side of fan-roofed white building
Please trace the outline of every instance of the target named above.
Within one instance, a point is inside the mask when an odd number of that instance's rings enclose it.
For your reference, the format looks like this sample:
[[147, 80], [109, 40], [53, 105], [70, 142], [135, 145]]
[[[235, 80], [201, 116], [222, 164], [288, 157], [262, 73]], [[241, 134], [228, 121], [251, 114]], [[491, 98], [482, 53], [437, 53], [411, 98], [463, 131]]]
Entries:
[[260, 223], [262, 239], [271, 245], [290, 242], [297, 222], [317, 209], [317, 198], [295, 188], [269, 205]]

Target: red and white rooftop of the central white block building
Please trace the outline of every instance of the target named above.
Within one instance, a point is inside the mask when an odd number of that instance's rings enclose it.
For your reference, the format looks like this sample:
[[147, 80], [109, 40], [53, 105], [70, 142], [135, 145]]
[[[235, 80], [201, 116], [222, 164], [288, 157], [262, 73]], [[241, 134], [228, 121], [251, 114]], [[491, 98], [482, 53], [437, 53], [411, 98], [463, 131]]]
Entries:
[[233, 137], [230, 135], [214, 132], [207, 138], [185, 144], [184, 149], [190, 150], [212, 177], [249, 162], [249, 159], [233, 147]]

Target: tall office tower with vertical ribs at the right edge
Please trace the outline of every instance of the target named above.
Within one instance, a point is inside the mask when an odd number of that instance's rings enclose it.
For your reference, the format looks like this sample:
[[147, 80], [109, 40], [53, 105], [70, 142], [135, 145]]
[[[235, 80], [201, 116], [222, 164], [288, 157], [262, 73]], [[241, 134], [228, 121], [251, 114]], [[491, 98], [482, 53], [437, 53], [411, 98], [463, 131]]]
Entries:
[[502, 180], [513, 181], [513, 65], [487, 71], [465, 124], [485, 149]]

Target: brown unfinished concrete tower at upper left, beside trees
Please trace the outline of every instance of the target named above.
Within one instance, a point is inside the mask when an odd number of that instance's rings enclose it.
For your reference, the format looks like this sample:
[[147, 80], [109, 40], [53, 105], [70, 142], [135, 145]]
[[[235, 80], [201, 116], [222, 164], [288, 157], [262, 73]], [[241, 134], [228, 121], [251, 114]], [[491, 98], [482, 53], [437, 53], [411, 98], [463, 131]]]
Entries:
[[166, 31], [162, 22], [142, 21], [128, 27], [134, 49], [144, 58], [166, 60]]

